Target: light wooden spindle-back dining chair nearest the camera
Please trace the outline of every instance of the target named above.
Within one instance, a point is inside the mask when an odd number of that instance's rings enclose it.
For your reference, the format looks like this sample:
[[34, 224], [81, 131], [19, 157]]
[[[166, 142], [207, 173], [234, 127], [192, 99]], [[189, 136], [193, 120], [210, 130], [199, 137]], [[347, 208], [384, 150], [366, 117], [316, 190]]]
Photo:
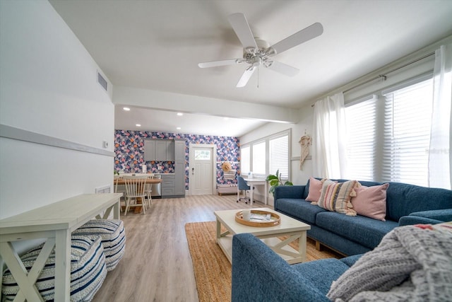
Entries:
[[123, 177], [126, 186], [126, 209], [125, 214], [132, 207], [141, 207], [143, 214], [146, 213], [146, 180], [148, 176], [136, 175], [136, 176], [124, 176]]

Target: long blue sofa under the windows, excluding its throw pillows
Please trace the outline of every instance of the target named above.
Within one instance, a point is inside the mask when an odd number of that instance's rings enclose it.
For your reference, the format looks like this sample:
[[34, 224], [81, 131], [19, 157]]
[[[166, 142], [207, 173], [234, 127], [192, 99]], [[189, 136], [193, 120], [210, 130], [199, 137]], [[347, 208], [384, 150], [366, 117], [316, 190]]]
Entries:
[[[367, 187], [382, 185], [381, 182], [359, 182]], [[307, 185], [276, 187], [275, 210], [308, 223], [311, 229], [307, 236], [316, 240], [318, 248], [323, 244], [343, 255], [374, 249], [396, 226], [452, 221], [452, 190], [389, 182], [386, 221], [327, 211], [307, 202], [308, 193], [309, 181]]]

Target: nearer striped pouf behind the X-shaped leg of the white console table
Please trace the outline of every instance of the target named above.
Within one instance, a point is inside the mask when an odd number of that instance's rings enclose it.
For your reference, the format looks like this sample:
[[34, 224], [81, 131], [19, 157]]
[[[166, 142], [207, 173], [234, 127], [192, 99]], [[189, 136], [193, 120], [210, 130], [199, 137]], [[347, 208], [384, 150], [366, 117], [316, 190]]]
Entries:
[[[40, 254], [42, 245], [20, 257], [28, 272]], [[91, 301], [107, 276], [104, 248], [100, 236], [93, 240], [84, 236], [71, 238], [71, 302]], [[54, 301], [55, 295], [55, 251], [47, 259], [37, 278], [36, 287], [44, 301]], [[6, 269], [3, 276], [2, 301], [13, 301], [19, 287]]]

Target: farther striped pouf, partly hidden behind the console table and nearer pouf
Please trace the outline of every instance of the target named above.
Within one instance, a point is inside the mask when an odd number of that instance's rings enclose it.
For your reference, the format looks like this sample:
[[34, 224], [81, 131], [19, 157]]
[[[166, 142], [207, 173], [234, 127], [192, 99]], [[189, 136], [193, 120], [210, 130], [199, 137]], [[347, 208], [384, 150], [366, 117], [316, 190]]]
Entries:
[[83, 224], [73, 235], [101, 236], [105, 252], [107, 270], [113, 270], [126, 250], [126, 232], [124, 223], [119, 219], [93, 219]]

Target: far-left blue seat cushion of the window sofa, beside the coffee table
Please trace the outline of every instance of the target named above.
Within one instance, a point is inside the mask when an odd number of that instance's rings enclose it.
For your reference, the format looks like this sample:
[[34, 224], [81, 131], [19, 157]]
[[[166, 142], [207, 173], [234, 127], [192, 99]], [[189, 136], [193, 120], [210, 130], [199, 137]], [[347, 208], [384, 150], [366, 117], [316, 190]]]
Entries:
[[278, 199], [278, 211], [307, 223], [316, 223], [316, 215], [326, 210], [304, 199], [281, 198]]

